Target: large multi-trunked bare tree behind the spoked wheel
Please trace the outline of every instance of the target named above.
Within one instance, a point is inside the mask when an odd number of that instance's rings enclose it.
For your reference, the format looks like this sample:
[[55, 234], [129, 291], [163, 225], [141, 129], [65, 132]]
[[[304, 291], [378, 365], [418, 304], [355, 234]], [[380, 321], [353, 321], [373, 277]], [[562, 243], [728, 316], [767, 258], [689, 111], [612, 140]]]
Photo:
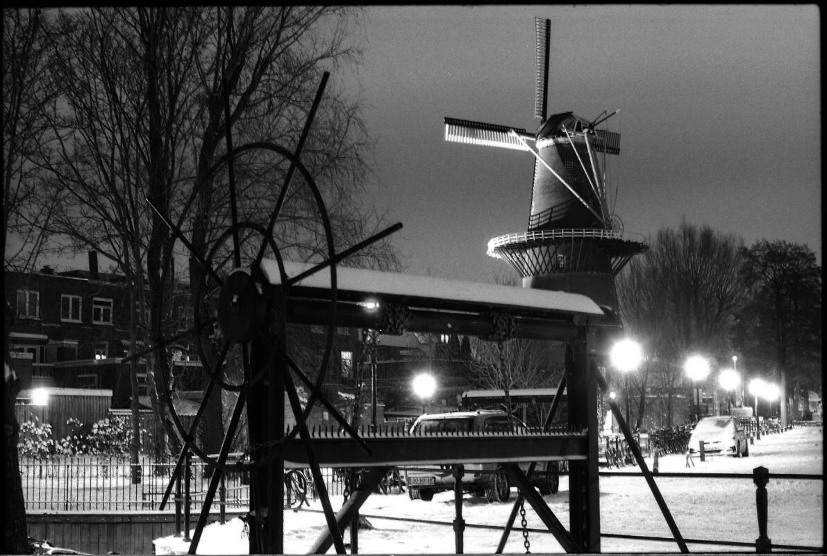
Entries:
[[[50, 170], [71, 192], [73, 204], [57, 230], [70, 238], [69, 247], [99, 247], [117, 261], [132, 277], [141, 307], [146, 295], [154, 323], [137, 324], [138, 342], [157, 343], [168, 335], [175, 277], [166, 265], [190, 256], [179, 251], [165, 221], [177, 224], [195, 252], [212, 252], [217, 270], [227, 270], [232, 264], [229, 176], [226, 164], [217, 166], [227, 152], [227, 128], [235, 145], [277, 141], [293, 147], [322, 66], [336, 67], [357, 55], [345, 45], [351, 12], [290, 6], [95, 8], [63, 18], [75, 27], [67, 44], [55, 41], [65, 87], [53, 124], [62, 139], [61, 160]], [[337, 243], [348, 245], [381, 224], [380, 215], [358, 200], [369, 171], [370, 141], [355, 101], [336, 89], [325, 98], [302, 160], [325, 196]], [[233, 164], [239, 220], [265, 228], [287, 165], [266, 152], [239, 156]], [[275, 237], [283, 256], [311, 261], [323, 246], [316, 213], [302, 194], [300, 187], [290, 189], [288, 200], [295, 202], [284, 211]], [[145, 196], [156, 212], [143, 204]], [[262, 241], [251, 229], [244, 231], [242, 240], [251, 241], [242, 241], [243, 249]], [[373, 250], [363, 263], [396, 265], [389, 243]], [[242, 256], [249, 261], [251, 252]], [[204, 314], [210, 285], [197, 257], [190, 256], [186, 273], [196, 309]], [[206, 368], [210, 357], [217, 357], [210, 349], [215, 340], [207, 330], [199, 341], [207, 347]], [[164, 415], [161, 377], [151, 364], [147, 375], [154, 409]], [[217, 452], [221, 400], [212, 396], [207, 403], [203, 448]], [[173, 427], [169, 434], [174, 440]]]

